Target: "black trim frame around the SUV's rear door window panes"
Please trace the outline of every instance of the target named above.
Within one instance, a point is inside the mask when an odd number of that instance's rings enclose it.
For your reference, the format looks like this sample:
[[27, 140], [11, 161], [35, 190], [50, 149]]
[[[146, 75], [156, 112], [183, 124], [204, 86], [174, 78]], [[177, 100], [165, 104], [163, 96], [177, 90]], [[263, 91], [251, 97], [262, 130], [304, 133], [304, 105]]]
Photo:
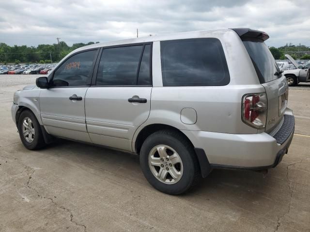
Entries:
[[[102, 56], [102, 53], [103, 53], [104, 49], [117, 48], [117, 47], [139, 46], [139, 45], [143, 45], [143, 47], [142, 47], [142, 52], [140, 54], [140, 60], [139, 60], [139, 64], [138, 64], [137, 74], [136, 74], [136, 84], [137, 85], [119, 85], [119, 86], [109, 86], [109, 85], [98, 85], [97, 86], [96, 85], [97, 73], [98, 73], [98, 69], [99, 69], [99, 63], [100, 63], [101, 56]], [[140, 73], [140, 64], [141, 64], [142, 56], [143, 56], [143, 53], [144, 53], [145, 45], [150, 45], [150, 79], [151, 79], [151, 85], [138, 85], [138, 79], [139, 79], [139, 73]], [[120, 45], [112, 45], [112, 46], [101, 47], [100, 48], [100, 52], [98, 54], [98, 58], [96, 60], [96, 64], [94, 66], [93, 79], [92, 79], [91, 87], [153, 87], [153, 75], [152, 75], [152, 58], [153, 58], [153, 55], [152, 54], [153, 54], [153, 42], [126, 43], [126, 44], [120, 44]]]

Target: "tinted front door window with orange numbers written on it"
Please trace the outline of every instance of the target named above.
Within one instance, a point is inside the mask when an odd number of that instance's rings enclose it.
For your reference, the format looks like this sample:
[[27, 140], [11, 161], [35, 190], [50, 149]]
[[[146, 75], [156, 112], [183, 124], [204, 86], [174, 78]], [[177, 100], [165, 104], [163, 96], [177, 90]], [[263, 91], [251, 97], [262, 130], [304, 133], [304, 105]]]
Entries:
[[96, 52], [81, 52], [67, 59], [54, 73], [51, 84], [55, 87], [89, 86]]

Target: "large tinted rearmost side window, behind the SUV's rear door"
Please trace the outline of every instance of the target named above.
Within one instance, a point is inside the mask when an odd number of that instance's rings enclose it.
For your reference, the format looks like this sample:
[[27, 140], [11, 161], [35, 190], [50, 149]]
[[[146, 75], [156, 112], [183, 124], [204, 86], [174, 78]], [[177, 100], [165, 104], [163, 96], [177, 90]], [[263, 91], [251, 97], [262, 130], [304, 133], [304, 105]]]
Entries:
[[163, 86], [225, 86], [230, 82], [225, 54], [216, 38], [160, 42]]

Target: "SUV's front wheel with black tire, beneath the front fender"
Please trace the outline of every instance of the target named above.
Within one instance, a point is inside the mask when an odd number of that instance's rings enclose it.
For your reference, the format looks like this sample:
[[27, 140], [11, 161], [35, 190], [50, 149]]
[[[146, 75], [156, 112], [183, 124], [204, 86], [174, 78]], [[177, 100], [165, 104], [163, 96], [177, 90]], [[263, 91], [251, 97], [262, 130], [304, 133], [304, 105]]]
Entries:
[[21, 142], [27, 149], [36, 150], [46, 145], [40, 124], [29, 110], [21, 112], [18, 118], [18, 132]]

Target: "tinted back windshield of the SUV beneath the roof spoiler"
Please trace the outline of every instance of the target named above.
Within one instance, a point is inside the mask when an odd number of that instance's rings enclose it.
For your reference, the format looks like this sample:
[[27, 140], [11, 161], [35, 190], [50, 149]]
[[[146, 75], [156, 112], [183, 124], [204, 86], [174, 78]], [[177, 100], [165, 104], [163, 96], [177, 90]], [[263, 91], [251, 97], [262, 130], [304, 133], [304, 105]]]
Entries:
[[243, 41], [260, 83], [273, 81], [281, 76], [281, 71], [265, 43], [260, 40]]

